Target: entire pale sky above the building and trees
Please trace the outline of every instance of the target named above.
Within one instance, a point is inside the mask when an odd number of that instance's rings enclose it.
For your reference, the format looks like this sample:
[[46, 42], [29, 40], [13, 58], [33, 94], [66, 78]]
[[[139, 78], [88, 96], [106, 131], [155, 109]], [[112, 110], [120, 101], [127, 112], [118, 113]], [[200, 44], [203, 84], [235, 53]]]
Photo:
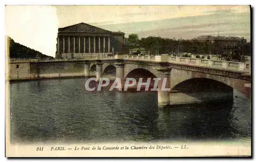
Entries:
[[[41, 52], [44, 50], [50, 56], [55, 55], [57, 29], [80, 22], [113, 32], [121, 31], [125, 37], [132, 33], [138, 34], [139, 38], [177, 39], [224, 35], [250, 41], [249, 6], [6, 7], [6, 33], [15, 41]], [[48, 44], [48, 49], [45, 44]]]

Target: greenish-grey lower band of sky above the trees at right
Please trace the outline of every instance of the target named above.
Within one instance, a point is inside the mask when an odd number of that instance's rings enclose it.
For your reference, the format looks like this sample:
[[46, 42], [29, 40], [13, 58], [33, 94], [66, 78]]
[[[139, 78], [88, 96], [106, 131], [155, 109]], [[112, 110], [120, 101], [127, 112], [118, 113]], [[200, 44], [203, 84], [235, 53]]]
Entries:
[[[217, 12], [216, 14], [189, 16], [172, 19], [161, 19], [156, 21], [126, 22], [120, 24], [100, 25], [100, 28], [113, 31], [115, 29], [126, 33], [126, 37], [131, 33], [138, 36], [158, 36], [173, 38], [180, 37], [194, 38], [206, 33], [218, 34], [227, 31], [229, 35], [245, 37], [250, 40], [250, 12]], [[230, 33], [233, 31], [233, 33]], [[239, 33], [238, 31], [243, 31]], [[184, 35], [186, 33], [186, 35]], [[221, 33], [220, 33], [221, 34]]]

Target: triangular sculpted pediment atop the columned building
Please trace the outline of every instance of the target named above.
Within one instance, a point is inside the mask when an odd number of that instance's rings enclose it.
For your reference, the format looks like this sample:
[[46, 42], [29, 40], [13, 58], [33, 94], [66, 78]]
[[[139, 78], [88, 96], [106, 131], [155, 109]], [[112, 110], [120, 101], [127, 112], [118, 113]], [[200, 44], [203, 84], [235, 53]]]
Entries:
[[79, 33], [111, 33], [111, 31], [107, 31], [96, 26], [87, 24], [87, 23], [78, 23], [71, 26], [67, 26], [65, 28], [59, 28], [59, 32], [69, 33], [69, 32], [79, 32]]

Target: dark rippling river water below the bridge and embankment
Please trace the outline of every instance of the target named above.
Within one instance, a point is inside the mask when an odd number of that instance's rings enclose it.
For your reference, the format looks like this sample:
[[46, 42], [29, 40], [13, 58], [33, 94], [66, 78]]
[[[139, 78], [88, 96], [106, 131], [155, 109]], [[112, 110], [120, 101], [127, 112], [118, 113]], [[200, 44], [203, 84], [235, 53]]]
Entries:
[[156, 92], [88, 92], [84, 78], [10, 83], [11, 142], [251, 140], [250, 99], [159, 110]]

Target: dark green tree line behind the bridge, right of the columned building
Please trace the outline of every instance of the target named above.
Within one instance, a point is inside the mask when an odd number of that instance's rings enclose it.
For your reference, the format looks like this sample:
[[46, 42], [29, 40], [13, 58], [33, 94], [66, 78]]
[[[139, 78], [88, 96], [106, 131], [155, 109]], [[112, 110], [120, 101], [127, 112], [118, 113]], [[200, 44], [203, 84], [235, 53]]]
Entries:
[[140, 46], [145, 49], [145, 51], [150, 51], [151, 53], [191, 53], [191, 54], [202, 54], [202, 55], [217, 55], [222, 54], [229, 49], [240, 49], [244, 55], [250, 55], [250, 42], [247, 43], [220, 43], [215, 41], [209, 43], [207, 41], [199, 40], [177, 40], [175, 38], [161, 38], [149, 36], [146, 38], [138, 38], [137, 34], [130, 34], [128, 38], [125, 38], [126, 45]]

